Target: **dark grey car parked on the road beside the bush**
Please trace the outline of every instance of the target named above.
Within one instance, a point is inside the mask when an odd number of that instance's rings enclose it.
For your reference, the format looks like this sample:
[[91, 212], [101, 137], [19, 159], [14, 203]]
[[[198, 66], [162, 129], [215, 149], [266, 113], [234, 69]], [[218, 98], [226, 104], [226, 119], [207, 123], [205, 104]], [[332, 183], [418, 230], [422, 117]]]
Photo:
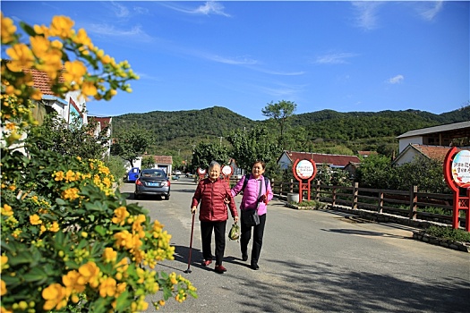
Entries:
[[134, 199], [139, 199], [143, 195], [170, 199], [170, 180], [167, 173], [155, 168], [142, 170], [135, 181]]

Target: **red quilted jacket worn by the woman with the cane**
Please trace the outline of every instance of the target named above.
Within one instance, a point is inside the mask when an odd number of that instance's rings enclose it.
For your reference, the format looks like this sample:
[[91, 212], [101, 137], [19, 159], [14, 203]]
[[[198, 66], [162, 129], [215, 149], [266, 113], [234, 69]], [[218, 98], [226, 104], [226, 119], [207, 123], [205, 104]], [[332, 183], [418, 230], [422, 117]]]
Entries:
[[201, 180], [194, 196], [192, 196], [192, 205], [199, 208], [199, 220], [204, 222], [221, 222], [228, 219], [228, 210], [224, 199], [230, 199], [228, 206], [232, 217], [238, 216], [236, 212], [235, 200], [232, 197], [230, 189], [226, 182], [218, 179], [211, 182], [209, 178]]

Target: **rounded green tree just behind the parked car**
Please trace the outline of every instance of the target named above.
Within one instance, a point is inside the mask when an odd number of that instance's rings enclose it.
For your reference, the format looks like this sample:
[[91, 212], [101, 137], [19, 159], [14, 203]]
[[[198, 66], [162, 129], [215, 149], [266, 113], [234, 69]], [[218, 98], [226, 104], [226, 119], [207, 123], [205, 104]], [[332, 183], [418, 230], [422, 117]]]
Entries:
[[150, 131], [133, 123], [129, 127], [116, 130], [113, 141], [111, 154], [129, 161], [133, 167], [133, 161], [146, 152], [153, 142], [153, 137]]

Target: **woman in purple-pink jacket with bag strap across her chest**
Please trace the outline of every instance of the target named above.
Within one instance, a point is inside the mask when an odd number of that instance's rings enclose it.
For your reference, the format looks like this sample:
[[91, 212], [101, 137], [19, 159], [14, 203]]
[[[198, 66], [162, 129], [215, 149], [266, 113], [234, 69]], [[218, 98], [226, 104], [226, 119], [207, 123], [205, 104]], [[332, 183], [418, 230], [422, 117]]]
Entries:
[[[240, 248], [242, 250], [242, 259], [246, 261], [248, 259], [248, 243], [252, 238], [253, 230], [252, 259], [250, 267], [254, 270], [260, 268], [260, 266], [258, 266], [258, 260], [260, 259], [261, 254], [268, 201], [273, 197], [270, 182], [268, 178], [265, 178], [262, 175], [265, 169], [266, 165], [264, 162], [260, 160], [255, 161], [252, 165], [252, 173], [244, 176], [231, 190], [233, 197], [241, 191], [244, 191], [244, 197], [240, 204], [240, 211], [242, 213]], [[260, 224], [249, 225], [244, 223], [244, 210], [249, 209], [256, 209], [258, 211]]]

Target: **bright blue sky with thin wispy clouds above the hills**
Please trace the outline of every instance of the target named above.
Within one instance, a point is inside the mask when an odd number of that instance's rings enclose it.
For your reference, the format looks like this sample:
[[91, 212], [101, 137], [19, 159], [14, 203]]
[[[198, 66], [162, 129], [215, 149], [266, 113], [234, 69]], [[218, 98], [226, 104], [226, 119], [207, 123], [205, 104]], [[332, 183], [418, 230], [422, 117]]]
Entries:
[[91, 101], [114, 116], [224, 106], [253, 120], [294, 101], [297, 114], [416, 109], [470, 100], [470, 2], [2, 1], [15, 22], [75, 21], [141, 79]]

